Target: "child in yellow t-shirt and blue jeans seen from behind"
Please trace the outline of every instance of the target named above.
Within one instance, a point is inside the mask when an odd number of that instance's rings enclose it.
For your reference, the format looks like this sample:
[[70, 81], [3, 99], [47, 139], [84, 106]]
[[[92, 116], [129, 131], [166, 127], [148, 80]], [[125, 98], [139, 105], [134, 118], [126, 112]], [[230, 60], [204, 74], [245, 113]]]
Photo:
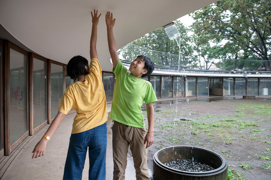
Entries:
[[57, 116], [32, 152], [32, 159], [43, 156], [47, 142], [64, 116], [71, 109], [75, 109], [76, 116], [73, 121], [63, 179], [82, 179], [88, 147], [89, 179], [105, 179], [107, 107], [96, 51], [97, 25], [101, 14], [98, 16], [98, 10], [94, 9], [91, 16], [90, 66], [87, 59], [82, 56], [70, 59], [66, 76], [70, 76], [74, 83], [66, 89]]

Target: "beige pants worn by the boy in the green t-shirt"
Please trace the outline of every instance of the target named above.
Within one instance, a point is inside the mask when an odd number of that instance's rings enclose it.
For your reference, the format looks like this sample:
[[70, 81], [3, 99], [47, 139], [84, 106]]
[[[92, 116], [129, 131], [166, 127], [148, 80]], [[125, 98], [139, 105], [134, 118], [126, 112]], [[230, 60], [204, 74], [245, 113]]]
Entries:
[[144, 145], [146, 129], [127, 126], [115, 121], [112, 134], [113, 179], [125, 179], [129, 145], [136, 169], [136, 179], [150, 179], [147, 167], [147, 149], [146, 144]]

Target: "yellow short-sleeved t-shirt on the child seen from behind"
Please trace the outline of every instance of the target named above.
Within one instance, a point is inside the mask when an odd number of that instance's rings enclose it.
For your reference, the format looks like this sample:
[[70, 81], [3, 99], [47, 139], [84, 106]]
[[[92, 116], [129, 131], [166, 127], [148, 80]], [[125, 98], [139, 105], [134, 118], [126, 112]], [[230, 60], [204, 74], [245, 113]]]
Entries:
[[72, 134], [87, 131], [107, 121], [107, 106], [99, 61], [92, 58], [85, 82], [69, 85], [62, 97], [58, 111], [67, 114], [75, 109]]

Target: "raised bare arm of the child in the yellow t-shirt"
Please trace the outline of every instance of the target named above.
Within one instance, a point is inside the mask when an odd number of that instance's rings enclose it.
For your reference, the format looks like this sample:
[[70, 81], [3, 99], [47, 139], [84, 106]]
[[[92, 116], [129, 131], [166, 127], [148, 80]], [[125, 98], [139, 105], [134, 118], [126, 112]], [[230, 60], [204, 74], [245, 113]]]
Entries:
[[91, 31], [91, 37], [90, 37], [90, 58], [96, 58], [98, 59], [98, 54], [97, 54], [97, 50], [96, 50], [96, 42], [97, 42], [97, 26], [98, 26], [98, 22], [99, 22], [99, 18], [101, 16], [98, 16], [98, 10], [95, 12], [94, 9], [94, 14], [91, 11], [91, 16], [92, 16], [92, 31]]

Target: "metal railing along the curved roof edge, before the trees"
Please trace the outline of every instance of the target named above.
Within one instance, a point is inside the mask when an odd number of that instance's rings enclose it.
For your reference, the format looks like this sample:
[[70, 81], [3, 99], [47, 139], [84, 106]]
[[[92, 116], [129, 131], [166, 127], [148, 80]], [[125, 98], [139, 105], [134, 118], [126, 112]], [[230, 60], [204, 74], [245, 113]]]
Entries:
[[182, 55], [159, 52], [131, 43], [120, 48], [118, 50], [118, 54], [120, 59], [126, 62], [133, 61], [138, 55], [145, 55], [154, 62], [156, 68], [164, 69], [210, 71], [271, 71], [271, 63], [269, 60], [207, 58], [204, 61], [199, 57], [185, 57]]

